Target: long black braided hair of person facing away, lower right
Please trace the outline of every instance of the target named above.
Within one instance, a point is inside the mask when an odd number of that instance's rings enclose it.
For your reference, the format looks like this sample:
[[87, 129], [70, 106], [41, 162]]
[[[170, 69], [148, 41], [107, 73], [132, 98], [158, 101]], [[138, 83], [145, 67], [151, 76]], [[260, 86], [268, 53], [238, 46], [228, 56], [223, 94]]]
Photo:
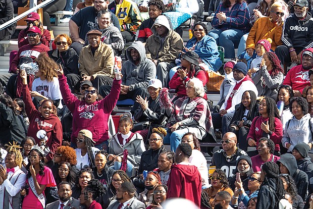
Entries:
[[[274, 191], [279, 199], [282, 199], [285, 195], [284, 185], [282, 179], [279, 177], [279, 167], [276, 163], [269, 161], [263, 164], [262, 170], [265, 172], [265, 179], [261, 184], [267, 185], [269, 179], [273, 179], [276, 184], [276, 191]], [[270, 185], [269, 185], [270, 186]]]

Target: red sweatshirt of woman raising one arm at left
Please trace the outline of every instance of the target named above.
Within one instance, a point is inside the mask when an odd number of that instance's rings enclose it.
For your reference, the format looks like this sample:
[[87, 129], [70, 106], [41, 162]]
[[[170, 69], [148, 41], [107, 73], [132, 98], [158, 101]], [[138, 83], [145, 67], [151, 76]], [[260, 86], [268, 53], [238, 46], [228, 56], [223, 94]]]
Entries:
[[[36, 134], [39, 130], [45, 130], [48, 140], [46, 145], [53, 152], [56, 152], [58, 147], [62, 146], [63, 131], [62, 124], [58, 116], [50, 115], [48, 118], [44, 118], [39, 113], [32, 101], [27, 85], [23, 85], [23, 101], [25, 102], [25, 111], [29, 118], [29, 128], [27, 136], [31, 136], [35, 139], [36, 143], [40, 142]], [[41, 126], [39, 126], [41, 124]], [[49, 152], [46, 155], [48, 161], [51, 161], [54, 156], [53, 153]]]

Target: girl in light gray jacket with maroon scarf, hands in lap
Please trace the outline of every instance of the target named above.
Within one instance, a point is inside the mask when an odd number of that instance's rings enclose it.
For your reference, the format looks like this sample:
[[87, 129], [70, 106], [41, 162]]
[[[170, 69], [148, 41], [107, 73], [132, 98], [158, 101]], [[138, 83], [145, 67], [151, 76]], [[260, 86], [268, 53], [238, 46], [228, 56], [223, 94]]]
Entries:
[[142, 136], [131, 132], [132, 126], [133, 121], [128, 115], [120, 117], [119, 133], [113, 136], [108, 155], [108, 161], [114, 162], [111, 168], [125, 170], [129, 177], [133, 176], [133, 169], [139, 166], [141, 154], [145, 151]]

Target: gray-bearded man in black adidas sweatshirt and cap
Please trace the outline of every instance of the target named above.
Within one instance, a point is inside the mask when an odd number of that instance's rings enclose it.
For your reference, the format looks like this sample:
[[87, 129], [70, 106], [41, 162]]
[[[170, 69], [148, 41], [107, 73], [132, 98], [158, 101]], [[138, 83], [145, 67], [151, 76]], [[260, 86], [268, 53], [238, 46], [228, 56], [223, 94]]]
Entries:
[[313, 19], [307, 12], [307, 0], [296, 1], [293, 8], [294, 14], [283, 25], [283, 45], [275, 49], [282, 68], [285, 63], [300, 63], [302, 50], [313, 47]]

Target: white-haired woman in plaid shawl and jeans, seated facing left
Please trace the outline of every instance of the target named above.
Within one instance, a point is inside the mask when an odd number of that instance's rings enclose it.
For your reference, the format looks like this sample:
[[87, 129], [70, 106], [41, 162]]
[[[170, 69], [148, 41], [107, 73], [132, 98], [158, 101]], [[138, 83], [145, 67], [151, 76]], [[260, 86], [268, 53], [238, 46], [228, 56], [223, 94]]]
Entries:
[[215, 139], [212, 117], [207, 102], [203, 99], [204, 88], [198, 78], [192, 78], [186, 83], [187, 96], [177, 99], [166, 114], [170, 117], [165, 142], [171, 144], [175, 151], [181, 137], [187, 132], [195, 133], [196, 137], [209, 134]]

